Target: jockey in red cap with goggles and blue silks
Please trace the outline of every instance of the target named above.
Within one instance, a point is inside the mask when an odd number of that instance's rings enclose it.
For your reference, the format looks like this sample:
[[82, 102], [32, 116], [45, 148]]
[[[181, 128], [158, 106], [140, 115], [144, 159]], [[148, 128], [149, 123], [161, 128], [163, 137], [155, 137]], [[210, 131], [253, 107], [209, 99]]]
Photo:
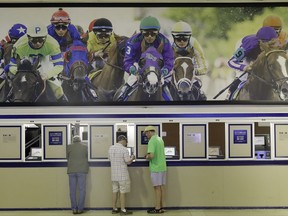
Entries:
[[52, 14], [50, 22], [48, 34], [58, 41], [62, 53], [67, 51], [74, 40], [81, 40], [77, 28], [71, 24], [69, 14], [62, 8]]

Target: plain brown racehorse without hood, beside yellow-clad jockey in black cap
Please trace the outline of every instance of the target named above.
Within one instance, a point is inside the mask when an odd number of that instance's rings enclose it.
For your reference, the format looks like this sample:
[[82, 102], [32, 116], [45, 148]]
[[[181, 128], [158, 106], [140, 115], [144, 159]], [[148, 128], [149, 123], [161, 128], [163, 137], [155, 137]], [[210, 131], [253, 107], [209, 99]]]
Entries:
[[108, 101], [112, 101], [115, 92], [124, 83], [123, 60], [128, 37], [117, 36], [115, 39], [116, 43], [110, 47], [109, 58], [104, 60], [102, 71], [90, 72], [91, 82], [97, 89], [104, 91]]

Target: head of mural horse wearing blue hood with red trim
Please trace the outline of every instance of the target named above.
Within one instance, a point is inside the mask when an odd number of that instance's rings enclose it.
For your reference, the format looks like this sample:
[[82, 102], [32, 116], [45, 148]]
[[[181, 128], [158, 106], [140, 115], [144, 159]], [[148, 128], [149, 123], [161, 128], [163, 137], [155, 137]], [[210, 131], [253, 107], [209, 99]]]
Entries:
[[72, 81], [74, 91], [77, 91], [88, 74], [88, 50], [79, 40], [64, 53], [64, 74]]

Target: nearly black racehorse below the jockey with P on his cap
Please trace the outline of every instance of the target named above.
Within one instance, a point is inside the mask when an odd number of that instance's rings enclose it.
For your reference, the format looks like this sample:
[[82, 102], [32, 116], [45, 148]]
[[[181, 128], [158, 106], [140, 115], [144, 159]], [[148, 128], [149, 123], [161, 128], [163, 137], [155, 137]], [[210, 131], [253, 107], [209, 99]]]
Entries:
[[10, 102], [56, 102], [52, 90], [37, 70], [39, 59], [33, 64], [28, 59], [17, 58], [17, 72], [11, 81]]

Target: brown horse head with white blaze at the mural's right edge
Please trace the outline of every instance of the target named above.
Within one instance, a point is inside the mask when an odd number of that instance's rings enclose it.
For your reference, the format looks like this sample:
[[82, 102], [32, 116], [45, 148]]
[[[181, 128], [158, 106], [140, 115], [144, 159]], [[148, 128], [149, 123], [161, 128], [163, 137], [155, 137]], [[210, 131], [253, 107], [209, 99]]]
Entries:
[[274, 44], [261, 43], [263, 52], [252, 66], [254, 79], [270, 87], [280, 100], [288, 100], [288, 56]]

